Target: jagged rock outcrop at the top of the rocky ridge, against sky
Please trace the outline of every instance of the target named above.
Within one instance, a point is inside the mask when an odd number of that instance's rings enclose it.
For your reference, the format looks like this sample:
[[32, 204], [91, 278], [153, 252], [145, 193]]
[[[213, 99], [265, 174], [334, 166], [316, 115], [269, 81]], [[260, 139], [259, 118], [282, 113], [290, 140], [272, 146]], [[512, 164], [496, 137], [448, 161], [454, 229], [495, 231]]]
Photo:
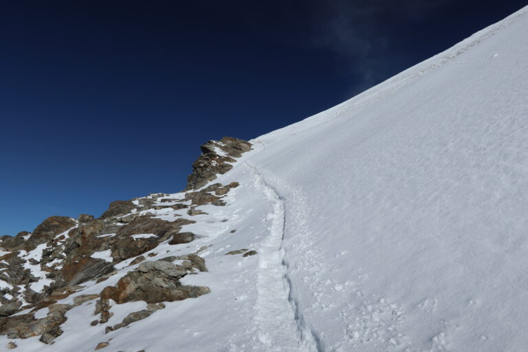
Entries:
[[[200, 146], [201, 155], [192, 164], [192, 173], [187, 178], [185, 190], [197, 189], [208, 181], [217, 178], [217, 174], [228, 172], [236, 162], [234, 157], [251, 150], [251, 144], [232, 137], [223, 137], [219, 141], [209, 141]], [[220, 151], [220, 152], [218, 152]]]

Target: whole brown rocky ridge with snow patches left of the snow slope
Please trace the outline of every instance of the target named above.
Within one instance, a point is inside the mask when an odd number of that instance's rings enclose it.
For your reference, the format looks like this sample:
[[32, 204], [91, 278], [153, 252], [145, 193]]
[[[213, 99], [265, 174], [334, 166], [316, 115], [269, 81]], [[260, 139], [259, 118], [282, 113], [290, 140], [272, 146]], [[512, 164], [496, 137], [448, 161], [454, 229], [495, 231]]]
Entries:
[[[193, 252], [162, 256], [157, 248], [181, 246], [184, 251], [185, 245], [199, 238], [200, 234], [184, 227], [195, 223], [197, 215], [207, 214], [201, 207], [224, 206], [226, 195], [239, 184], [203, 186], [228, 172], [250, 149], [249, 142], [232, 137], [209, 141], [192, 164], [184, 192], [113, 201], [97, 219], [89, 214], [77, 219], [54, 216], [32, 232], [1, 236], [0, 335], [38, 336], [50, 344], [63, 334], [67, 312], [79, 305], [95, 303], [94, 314], [99, 318], [91, 320], [98, 325], [111, 316], [111, 305], [148, 303], [147, 309], [131, 312], [118, 325], [106, 327], [107, 332], [147, 318], [164, 308], [164, 302], [208, 294], [206, 286], [180, 282], [184, 276], [207, 271], [201, 256]], [[113, 284], [83, 294], [87, 283], [107, 280]]]

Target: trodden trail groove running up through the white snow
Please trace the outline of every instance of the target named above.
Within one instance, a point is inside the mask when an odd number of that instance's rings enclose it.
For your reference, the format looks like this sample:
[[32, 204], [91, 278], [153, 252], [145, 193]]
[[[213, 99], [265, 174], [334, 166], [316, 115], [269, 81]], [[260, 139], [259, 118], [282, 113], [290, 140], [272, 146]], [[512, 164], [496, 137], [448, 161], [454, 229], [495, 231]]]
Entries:
[[254, 186], [272, 203], [267, 214], [270, 234], [259, 248], [259, 273], [254, 317], [256, 345], [263, 351], [322, 351], [317, 338], [305, 326], [292, 297], [291, 281], [287, 276], [285, 254], [282, 248], [285, 226], [285, 203], [276, 190], [248, 163], [254, 174]]

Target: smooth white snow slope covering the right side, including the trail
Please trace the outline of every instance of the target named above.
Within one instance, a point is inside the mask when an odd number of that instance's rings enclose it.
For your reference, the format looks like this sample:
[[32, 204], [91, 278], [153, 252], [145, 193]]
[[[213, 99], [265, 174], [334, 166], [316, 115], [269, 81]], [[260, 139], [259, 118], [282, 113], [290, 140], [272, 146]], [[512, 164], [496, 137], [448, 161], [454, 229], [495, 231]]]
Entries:
[[[184, 227], [201, 238], [153, 250], [212, 245], [183, 280], [210, 294], [107, 335], [85, 303], [54, 345], [19, 348], [526, 351], [527, 12], [253, 140], [215, 180], [241, 183], [228, 205]], [[259, 254], [224, 255], [241, 248]], [[143, 306], [113, 305], [109, 325]]]

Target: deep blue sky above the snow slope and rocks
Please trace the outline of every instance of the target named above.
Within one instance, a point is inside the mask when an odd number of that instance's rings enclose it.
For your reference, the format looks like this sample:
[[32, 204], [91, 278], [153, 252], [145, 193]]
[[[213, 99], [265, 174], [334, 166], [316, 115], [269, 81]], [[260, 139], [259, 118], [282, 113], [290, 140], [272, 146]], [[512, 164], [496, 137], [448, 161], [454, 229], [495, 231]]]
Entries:
[[525, 1], [2, 1], [0, 234], [184, 188]]

